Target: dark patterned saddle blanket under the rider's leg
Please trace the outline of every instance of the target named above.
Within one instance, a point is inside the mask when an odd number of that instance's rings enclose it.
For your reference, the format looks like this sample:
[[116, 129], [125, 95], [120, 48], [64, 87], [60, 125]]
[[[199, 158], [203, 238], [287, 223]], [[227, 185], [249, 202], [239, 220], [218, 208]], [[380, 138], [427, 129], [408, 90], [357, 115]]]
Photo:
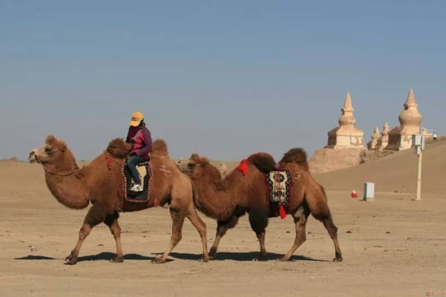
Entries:
[[153, 172], [150, 167], [150, 162], [143, 162], [137, 165], [139, 177], [141, 178], [144, 191], [133, 192], [132, 188], [132, 175], [127, 168], [127, 159], [123, 162], [122, 175], [124, 179], [124, 199], [128, 202], [147, 202], [151, 193], [151, 182], [153, 179]]

